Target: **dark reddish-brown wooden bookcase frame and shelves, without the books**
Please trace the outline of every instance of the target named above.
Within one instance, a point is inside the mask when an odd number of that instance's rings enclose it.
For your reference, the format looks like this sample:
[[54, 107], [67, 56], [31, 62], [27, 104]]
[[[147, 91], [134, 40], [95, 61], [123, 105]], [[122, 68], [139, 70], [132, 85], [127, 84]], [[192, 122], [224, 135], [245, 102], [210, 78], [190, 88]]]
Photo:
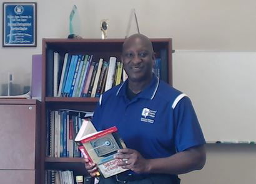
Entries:
[[[172, 85], [172, 39], [151, 39], [156, 55], [165, 49], [167, 59], [167, 82]], [[76, 174], [87, 175], [84, 163], [80, 158], [50, 158], [46, 157], [46, 111], [56, 109], [77, 109], [94, 111], [98, 98], [67, 98], [52, 97], [51, 85], [53, 59], [52, 52], [58, 51], [63, 61], [64, 54], [90, 54], [93, 60], [99, 58], [109, 60], [110, 56], [121, 59], [121, 50], [124, 39], [43, 39], [42, 40], [42, 124], [41, 124], [41, 182], [44, 183], [44, 170], [74, 170]], [[50, 87], [49, 87], [50, 86]]]

